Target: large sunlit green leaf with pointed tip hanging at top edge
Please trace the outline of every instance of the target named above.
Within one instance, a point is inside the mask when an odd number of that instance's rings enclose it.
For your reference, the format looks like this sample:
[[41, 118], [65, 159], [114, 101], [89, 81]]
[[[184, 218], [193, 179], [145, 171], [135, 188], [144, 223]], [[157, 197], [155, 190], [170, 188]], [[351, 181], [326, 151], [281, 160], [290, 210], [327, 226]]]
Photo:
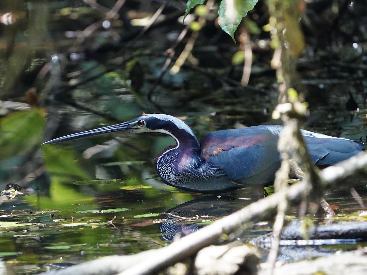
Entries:
[[[247, 15], [247, 12], [252, 10], [258, 0], [230, 0], [233, 3], [233, 7], [227, 7], [227, 1], [222, 0], [218, 11], [218, 23], [222, 30], [235, 40], [235, 31], [238, 25], [240, 25], [243, 17]], [[229, 1], [228, 1], [229, 2]]]

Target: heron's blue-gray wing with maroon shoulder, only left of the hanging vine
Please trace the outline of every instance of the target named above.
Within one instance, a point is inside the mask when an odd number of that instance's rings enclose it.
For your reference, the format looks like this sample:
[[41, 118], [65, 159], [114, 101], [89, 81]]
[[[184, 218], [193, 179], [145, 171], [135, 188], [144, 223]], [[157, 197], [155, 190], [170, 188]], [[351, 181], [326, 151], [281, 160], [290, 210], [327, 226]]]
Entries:
[[272, 181], [280, 166], [277, 141], [281, 129], [262, 125], [211, 133], [201, 142], [201, 156], [238, 184]]

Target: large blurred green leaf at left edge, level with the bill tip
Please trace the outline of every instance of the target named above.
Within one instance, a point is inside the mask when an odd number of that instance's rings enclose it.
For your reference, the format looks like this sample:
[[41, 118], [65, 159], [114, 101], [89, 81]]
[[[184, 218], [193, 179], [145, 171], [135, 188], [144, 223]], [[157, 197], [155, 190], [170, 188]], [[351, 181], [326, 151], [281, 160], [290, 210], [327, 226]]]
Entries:
[[45, 120], [43, 109], [16, 111], [0, 120], [0, 159], [28, 153], [41, 142]]

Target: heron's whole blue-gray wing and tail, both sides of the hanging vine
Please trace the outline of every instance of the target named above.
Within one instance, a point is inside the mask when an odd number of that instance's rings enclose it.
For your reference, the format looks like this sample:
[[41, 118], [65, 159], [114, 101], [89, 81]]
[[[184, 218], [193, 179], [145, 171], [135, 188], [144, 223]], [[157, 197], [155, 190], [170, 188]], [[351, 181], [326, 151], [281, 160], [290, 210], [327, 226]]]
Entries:
[[[201, 142], [201, 158], [221, 168], [238, 184], [262, 184], [274, 180], [280, 166], [277, 151], [283, 126], [261, 125], [213, 132]], [[334, 165], [363, 151], [364, 144], [301, 130], [312, 161], [317, 166]]]

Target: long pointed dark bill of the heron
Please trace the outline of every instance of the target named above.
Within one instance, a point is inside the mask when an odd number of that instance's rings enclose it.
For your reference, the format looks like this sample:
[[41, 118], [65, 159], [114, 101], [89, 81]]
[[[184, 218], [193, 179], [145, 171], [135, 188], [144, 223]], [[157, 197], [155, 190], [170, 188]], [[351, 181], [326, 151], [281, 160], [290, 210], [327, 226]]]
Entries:
[[75, 134], [71, 134], [67, 136], [58, 137], [57, 139], [52, 139], [50, 141], [42, 143], [42, 145], [59, 143], [59, 142], [67, 141], [67, 140], [73, 140], [73, 139], [79, 139], [81, 137], [97, 136], [97, 135], [102, 135], [102, 134], [111, 133], [111, 132], [133, 129], [133, 127], [130, 126], [129, 122], [131, 121], [123, 122], [123, 123], [116, 124], [116, 125], [106, 126], [106, 127], [102, 127], [102, 128], [98, 128], [94, 130], [89, 130], [85, 132], [75, 133]]

